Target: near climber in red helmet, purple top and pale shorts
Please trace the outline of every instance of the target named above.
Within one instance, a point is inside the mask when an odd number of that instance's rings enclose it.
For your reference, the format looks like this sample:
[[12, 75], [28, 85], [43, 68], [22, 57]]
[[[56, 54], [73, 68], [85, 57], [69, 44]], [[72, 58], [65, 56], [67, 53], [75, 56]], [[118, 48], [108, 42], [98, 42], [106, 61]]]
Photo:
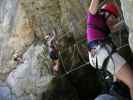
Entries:
[[110, 32], [120, 29], [114, 27], [120, 21], [119, 7], [114, 2], [106, 2], [99, 7], [102, 1], [104, 0], [91, 0], [87, 11], [89, 61], [93, 67], [102, 69], [105, 59], [109, 57], [106, 70], [128, 86], [133, 100], [133, 70], [116, 52], [114, 44], [108, 38]]

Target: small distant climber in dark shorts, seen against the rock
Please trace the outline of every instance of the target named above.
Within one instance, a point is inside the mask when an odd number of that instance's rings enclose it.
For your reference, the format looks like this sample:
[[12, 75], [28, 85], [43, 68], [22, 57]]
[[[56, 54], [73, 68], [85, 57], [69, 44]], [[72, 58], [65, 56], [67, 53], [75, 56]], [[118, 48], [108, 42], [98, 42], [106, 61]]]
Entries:
[[52, 59], [52, 71], [55, 76], [59, 72], [59, 57], [58, 57], [58, 48], [55, 40], [55, 32], [48, 33], [45, 39], [47, 40], [49, 56]]

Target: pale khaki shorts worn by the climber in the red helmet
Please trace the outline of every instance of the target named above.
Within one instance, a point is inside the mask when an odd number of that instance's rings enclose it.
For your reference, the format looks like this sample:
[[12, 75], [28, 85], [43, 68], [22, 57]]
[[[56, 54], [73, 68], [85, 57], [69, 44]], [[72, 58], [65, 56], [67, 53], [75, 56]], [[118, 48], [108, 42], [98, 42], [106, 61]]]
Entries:
[[[112, 48], [108, 44], [105, 44], [104, 46], [99, 44], [95, 47], [94, 51], [95, 53], [93, 52], [93, 55], [91, 52], [88, 52], [90, 64], [96, 68], [96, 59], [97, 59], [98, 68], [101, 69], [103, 62], [112, 52]], [[109, 71], [111, 74], [114, 75], [120, 70], [120, 68], [125, 63], [126, 60], [123, 57], [121, 57], [117, 52], [114, 52], [112, 56], [109, 58], [106, 69], [107, 71]]]

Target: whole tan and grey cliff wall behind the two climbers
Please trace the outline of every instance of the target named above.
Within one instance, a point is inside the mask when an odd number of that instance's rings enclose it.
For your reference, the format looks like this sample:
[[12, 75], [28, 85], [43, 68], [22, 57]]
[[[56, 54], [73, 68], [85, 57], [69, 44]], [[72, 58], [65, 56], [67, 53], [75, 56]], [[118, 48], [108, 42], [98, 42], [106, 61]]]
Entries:
[[[90, 0], [0, 2], [0, 80], [5, 82], [5, 85], [0, 82], [0, 97], [8, 95], [13, 100], [89, 100], [99, 93], [96, 72], [87, 63], [88, 51], [83, 39]], [[121, 2], [133, 48], [132, 9], [128, 8], [132, 1]], [[59, 79], [53, 79], [44, 38], [53, 31], [61, 62]], [[116, 44], [121, 46], [118, 42]], [[14, 60], [16, 56], [21, 56], [23, 61], [17, 63]]]

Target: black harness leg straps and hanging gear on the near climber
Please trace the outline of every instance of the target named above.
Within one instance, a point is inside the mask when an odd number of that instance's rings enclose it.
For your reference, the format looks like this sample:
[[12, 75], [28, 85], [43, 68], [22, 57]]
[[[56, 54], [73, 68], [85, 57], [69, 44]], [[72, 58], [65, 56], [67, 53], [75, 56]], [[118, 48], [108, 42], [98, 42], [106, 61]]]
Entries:
[[102, 93], [108, 93], [108, 90], [113, 83], [113, 77], [114, 76], [107, 70], [107, 65], [109, 63], [109, 60], [111, 59], [113, 62], [114, 71], [115, 71], [115, 64], [114, 64], [114, 61], [112, 59], [112, 54], [115, 53], [116, 51], [114, 49], [112, 49], [110, 52], [108, 50], [108, 47], [106, 47], [106, 45], [104, 43], [99, 44], [99, 45], [101, 45], [100, 48], [104, 47], [106, 49], [108, 56], [103, 61], [103, 64], [101, 67], [98, 65], [98, 58], [96, 56], [96, 70], [97, 70], [96, 73], [97, 73], [99, 81], [102, 83], [102, 86], [103, 86]]

